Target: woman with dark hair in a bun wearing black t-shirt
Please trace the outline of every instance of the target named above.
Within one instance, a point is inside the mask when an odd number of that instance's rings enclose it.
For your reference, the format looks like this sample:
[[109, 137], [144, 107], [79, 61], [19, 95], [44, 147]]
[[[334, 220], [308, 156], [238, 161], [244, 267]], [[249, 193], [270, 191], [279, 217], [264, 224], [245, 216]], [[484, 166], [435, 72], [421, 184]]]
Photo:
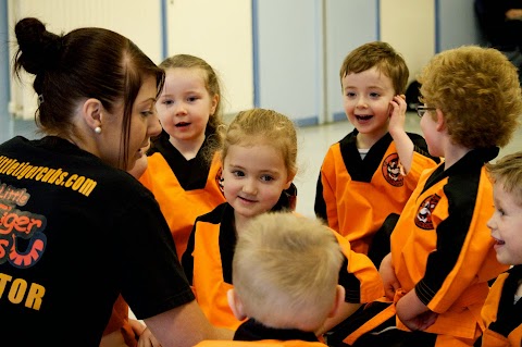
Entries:
[[232, 338], [202, 314], [158, 203], [125, 172], [161, 131], [163, 71], [108, 29], [59, 36], [24, 18], [15, 34], [44, 137], [0, 145], [2, 345], [98, 346], [120, 294], [163, 347]]

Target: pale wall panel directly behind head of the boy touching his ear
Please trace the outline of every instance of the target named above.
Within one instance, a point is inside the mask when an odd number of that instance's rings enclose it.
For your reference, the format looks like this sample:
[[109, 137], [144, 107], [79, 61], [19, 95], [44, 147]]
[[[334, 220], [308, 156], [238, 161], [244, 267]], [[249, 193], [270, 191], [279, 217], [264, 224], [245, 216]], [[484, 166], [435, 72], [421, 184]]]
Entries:
[[378, 1], [326, 1], [326, 119], [346, 120], [343, 110], [339, 69], [358, 46], [378, 40]]

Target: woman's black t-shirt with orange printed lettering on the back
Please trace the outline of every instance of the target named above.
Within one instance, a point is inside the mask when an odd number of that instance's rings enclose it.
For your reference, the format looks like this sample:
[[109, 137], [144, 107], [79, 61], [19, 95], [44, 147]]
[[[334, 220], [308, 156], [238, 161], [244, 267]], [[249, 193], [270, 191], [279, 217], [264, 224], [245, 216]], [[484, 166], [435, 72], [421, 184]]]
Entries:
[[194, 300], [150, 191], [59, 137], [0, 145], [0, 345], [98, 346], [120, 293], [138, 319]]

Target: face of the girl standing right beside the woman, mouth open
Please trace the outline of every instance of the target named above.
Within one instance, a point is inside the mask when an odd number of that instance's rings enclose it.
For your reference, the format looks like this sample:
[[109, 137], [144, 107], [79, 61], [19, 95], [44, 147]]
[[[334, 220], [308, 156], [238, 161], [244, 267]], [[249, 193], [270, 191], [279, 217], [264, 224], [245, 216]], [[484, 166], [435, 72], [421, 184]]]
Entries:
[[199, 67], [166, 70], [165, 86], [158, 100], [158, 115], [171, 141], [202, 144], [209, 117], [219, 96], [210, 96], [204, 71]]

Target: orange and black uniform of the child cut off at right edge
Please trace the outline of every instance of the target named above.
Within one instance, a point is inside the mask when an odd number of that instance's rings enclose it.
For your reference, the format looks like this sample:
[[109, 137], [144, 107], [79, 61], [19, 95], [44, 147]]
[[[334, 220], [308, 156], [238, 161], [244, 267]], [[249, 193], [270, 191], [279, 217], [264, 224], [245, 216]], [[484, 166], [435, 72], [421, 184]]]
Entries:
[[482, 309], [486, 331], [475, 346], [520, 347], [522, 343], [522, 300], [514, 300], [522, 283], [522, 265], [500, 274]]

